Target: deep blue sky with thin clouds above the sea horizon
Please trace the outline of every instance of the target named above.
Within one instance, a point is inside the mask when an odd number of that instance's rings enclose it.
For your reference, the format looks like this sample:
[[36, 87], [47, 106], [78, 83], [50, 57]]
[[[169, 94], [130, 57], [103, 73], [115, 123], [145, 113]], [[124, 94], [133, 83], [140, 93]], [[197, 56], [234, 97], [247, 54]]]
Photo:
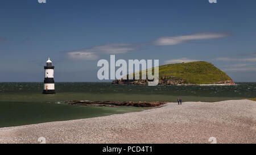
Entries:
[[2, 0], [0, 82], [98, 81], [97, 61], [204, 60], [256, 82], [256, 1]]

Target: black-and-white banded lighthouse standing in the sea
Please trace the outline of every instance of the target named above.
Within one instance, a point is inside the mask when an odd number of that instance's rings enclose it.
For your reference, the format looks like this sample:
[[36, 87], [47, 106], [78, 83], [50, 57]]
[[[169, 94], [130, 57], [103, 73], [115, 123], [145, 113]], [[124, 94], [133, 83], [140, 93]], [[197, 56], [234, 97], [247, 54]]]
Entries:
[[44, 66], [44, 91], [43, 94], [55, 94], [54, 86], [54, 66], [52, 61], [46, 61], [46, 66]]

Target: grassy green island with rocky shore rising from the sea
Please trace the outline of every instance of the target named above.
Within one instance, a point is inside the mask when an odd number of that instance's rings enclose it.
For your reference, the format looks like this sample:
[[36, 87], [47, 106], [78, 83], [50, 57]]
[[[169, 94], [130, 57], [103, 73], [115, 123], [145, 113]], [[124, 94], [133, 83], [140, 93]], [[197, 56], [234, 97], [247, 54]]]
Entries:
[[[144, 72], [144, 71], [142, 71]], [[154, 72], [153, 72], [154, 73]], [[141, 72], [140, 72], [141, 74]], [[141, 77], [141, 76], [140, 76]], [[119, 79], [114, 84], [146, 85], [147, 79]], [[234, 85], [233, 80], [213, 64], [205, 61], [168, 64], [159, 66], [159, 85]]]

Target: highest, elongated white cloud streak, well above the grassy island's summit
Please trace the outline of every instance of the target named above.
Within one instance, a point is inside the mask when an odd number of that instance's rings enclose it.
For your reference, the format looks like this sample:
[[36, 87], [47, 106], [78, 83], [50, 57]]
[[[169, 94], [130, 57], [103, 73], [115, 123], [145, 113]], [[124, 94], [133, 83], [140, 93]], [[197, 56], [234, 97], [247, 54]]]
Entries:
[[154, 41], [155, 45], [176, 45], [187, 43], [192, 40], [203, 40], [203, 39], [217, 39], [220, 37], [228, 37], [229, 33], [225, 32], [205, 32], [205, 33], [194, 33], [192, 35], [183, 36], [166, 36], [160, 37]]

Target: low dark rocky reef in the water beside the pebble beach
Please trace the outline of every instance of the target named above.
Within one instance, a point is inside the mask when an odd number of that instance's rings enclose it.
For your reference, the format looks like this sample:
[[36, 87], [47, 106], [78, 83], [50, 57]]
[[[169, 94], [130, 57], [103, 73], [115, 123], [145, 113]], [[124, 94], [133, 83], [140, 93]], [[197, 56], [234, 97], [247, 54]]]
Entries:
[[89, 101], [89, 100], [72, 100], [66, 103], [82, 106], [134, 106], [134, 107], [158, 107], [167, 102], [133, 102], [133, 101]]

